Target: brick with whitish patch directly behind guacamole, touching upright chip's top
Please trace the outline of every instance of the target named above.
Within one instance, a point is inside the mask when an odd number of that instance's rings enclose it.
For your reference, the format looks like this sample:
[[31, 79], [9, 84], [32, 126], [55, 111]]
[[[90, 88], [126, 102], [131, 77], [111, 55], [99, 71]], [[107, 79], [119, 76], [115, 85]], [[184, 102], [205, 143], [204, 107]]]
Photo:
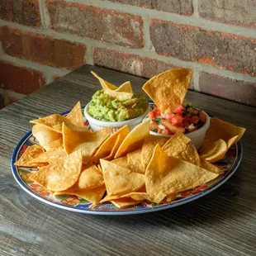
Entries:
[[135, 74], [144, 78], [151, 78], [155, 74], [173, 69], [175, 66], [157, 59], [149, 59], [139, 55], [130, 55], [95, 47], [93, 50], [94, 64], [108, 69], [119, 70], [124, 73]]

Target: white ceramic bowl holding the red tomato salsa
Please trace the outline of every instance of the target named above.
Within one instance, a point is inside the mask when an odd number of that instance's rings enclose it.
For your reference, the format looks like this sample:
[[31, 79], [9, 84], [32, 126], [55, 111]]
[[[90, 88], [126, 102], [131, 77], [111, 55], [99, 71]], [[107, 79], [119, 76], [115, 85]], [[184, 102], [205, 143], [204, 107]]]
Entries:
[[[206, 112], [203, 111], [205, 114]], [[145, 120], [148, 119], [145, 117]], [[210, 126], [210, 117], [206, 114], [206, 123], [204, 126], [201, 126], [200, 129], [192, 131], [190, 133], [187, 133], [186, 136], [192, 140], [192, 144], [195, 145], [195, 147], [198, 149], [201, 148], [201, 145], [203, 144], [203, 141], [205, 140], [205, 135], [206, 135], [206, 130], [208, 130]], [[159, 137], [164, 137], [164, 138], [171, 138], [172, 135], [161, 135], [157, 132], [154, 132], [152, 130], [149, 130], [151, 135], [159, 136]]]

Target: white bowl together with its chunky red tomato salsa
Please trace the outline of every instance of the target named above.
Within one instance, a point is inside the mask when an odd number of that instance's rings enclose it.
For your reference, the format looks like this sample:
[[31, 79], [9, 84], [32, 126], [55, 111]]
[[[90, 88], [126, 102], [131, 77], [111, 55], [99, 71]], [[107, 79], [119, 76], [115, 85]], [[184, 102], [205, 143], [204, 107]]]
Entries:
[[183, 103], [164, 113], [153, 104], [145, 120], [150, 122], [150, 134], [170, 138], [176, 132], [182, 132], [197, 149], [200, 149], [210, 126], [210, 117], [206, 112], [193, 107], [191, 103]]

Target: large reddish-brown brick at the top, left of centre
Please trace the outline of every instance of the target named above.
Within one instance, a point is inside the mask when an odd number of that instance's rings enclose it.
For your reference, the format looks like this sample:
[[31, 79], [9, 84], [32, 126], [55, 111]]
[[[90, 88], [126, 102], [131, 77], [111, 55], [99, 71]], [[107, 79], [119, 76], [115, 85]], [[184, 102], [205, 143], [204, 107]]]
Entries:
[[55, 31], [130, 48], [143, 47], [141, 17], [83, 4], [47, 0]]

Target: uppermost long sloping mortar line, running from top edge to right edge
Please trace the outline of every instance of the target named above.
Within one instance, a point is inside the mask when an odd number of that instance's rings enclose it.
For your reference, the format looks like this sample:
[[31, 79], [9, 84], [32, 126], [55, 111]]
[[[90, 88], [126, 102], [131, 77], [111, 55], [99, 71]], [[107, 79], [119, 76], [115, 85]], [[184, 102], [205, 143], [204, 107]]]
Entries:
[[[245, 26], [235, 26], [231, 24], [219, 23], [197, 17], [195, 15], [186, 16], [172, 12], [163, 12], [144, 7], [130, 6], [128, 4], [118, 2], [107, 2], [101, 0], [66, 0], [66, 2], [80, 3], [92, 7], [100, 7], [111, 11], [124, 12], [131, 15], [140, 15], [141, 17], [148, 16], [150, 18], [159, 19], [161, 21], [172, 21], [174, 23], [197, 26], [209, 31], [220, 31], [224, 33], [234, 34], [235, 36], [246, 36], [256, 38], [255, 29], [250, 29]], [[232, 32], [230, 32], [232, 31]]]

